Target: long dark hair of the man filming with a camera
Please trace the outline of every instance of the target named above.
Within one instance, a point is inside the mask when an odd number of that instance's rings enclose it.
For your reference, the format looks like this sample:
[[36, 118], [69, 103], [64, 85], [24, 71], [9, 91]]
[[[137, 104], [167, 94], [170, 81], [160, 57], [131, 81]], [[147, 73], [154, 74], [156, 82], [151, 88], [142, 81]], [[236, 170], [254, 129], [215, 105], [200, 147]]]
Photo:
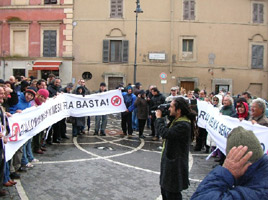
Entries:
[[193, 141], [195, 132], [197, 131], [196, 112], [193, 111], [185, 98], [178, 97], [173, 100], [175, 102], [175, 110], [181, 110], [181, 116], [186, 116], [191, 121], [191, 139]]

